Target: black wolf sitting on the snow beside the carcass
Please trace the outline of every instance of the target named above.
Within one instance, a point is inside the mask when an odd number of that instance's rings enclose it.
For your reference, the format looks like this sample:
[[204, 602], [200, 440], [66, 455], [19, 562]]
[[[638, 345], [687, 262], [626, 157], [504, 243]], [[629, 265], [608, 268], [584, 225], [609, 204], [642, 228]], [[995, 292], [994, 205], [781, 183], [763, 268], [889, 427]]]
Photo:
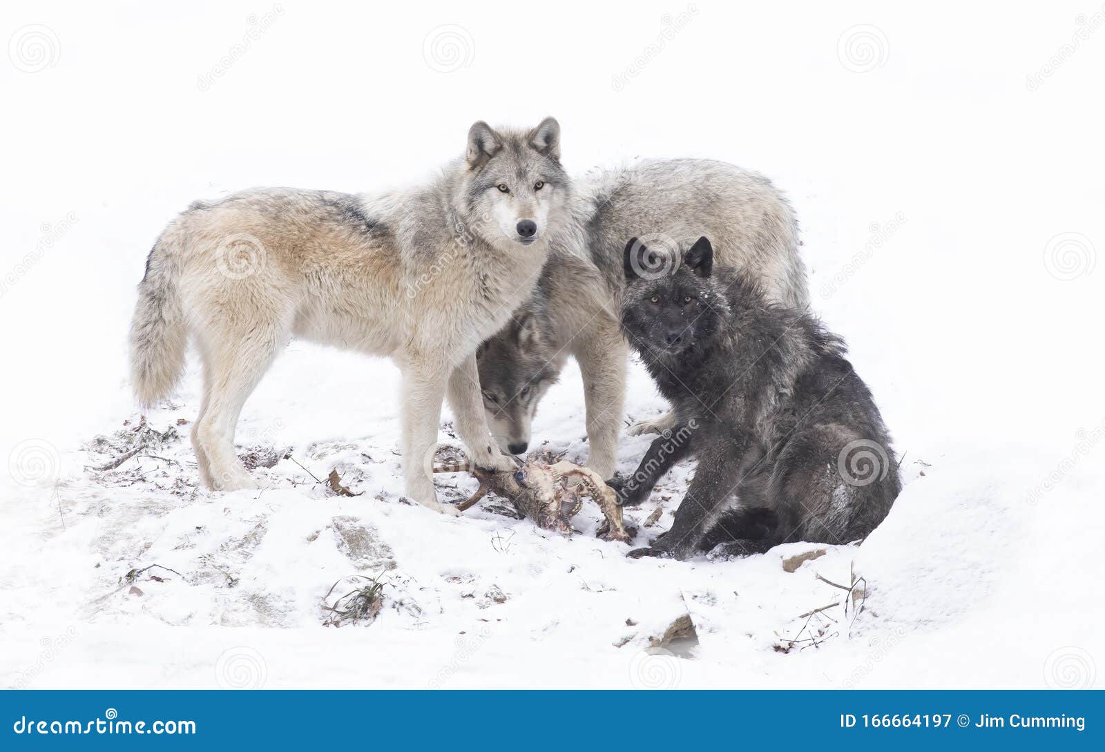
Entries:
[[656, 252], [638, 239], [624, 253], [622, 327], [675, 406], [675, 426], [634, 475], [611, 485], [624, 504], [640, 504], [675, 462], [698, 459], [671, 530], [630, 555], [684, 559], [722, 542], [745, 554], [866, 537], [902, 484], [890, 433], [843, 341], [771, 303], [748, 275], [715, 269], [706, 237], [662, 277], [641, 276]]

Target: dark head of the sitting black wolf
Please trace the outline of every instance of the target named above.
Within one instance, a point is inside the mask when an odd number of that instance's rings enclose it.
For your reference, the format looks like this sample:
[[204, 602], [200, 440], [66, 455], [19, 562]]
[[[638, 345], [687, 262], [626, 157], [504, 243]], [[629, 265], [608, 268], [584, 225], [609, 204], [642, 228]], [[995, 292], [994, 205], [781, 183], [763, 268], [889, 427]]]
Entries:
[[656, 257], [638, 239], [625, 246], [621, 322], [630, 345], [655, 356], [676, 356], [717, 327], [711, 272], [714, 248], [699, 237], [682, 260]]

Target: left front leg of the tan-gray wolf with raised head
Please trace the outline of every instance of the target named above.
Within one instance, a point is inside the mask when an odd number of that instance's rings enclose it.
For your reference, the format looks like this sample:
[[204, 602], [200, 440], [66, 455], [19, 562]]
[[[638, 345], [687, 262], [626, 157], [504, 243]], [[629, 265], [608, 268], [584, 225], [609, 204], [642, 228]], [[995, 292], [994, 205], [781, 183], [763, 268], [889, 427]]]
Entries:
[[455, 507], [438, 502], [433, 488], [432, 452], [438, 445], [441, 402], [445, 396], [448, 366], [409, 366], [403, 369], [402, 453], [407, 496], [419, 504], [457, 515]]

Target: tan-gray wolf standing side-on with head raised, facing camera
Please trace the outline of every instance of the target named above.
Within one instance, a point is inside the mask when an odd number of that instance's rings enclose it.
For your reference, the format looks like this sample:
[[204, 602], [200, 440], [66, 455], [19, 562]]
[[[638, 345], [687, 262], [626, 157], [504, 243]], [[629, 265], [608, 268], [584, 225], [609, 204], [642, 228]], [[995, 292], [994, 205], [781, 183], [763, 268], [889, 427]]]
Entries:
[[197, 202], [146, 262], [131, 377], [150, 404], [173, 386], [191, 335], [203, 362], [192, 444], [204, 486], [255, 487], [234, 455], [242, 404], [291, 337], [389, 356], [402, 370], [407, 494], [441, 511], [423, 459], [448, 392], [472, 462], [514, 465], [491, 441], [476, 346], [533, 292], [549, 243], [581, 230], [560, 128], [472, 126], [463, 159], [380, 195], [254, 189]]

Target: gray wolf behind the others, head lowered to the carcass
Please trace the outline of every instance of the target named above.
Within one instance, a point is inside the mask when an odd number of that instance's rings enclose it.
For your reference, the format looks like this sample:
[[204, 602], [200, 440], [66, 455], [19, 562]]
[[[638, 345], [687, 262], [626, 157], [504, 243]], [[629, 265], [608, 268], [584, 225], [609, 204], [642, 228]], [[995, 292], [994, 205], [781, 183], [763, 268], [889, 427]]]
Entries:
[[[704, 159], [653, 159], [576, 186], [587, 254], [554, 247], [534, 297], [480, 348], [480, 382], [499, 447], [522, 454], [538, 403], [568, 356], [576, 358], [587, 401], [587, 465], [609, 478], [628, 367], [618, 325], [625, 239], [674, 248], [709, 235], [718, 241], [719, 265], [745, 269], [770, 299], [797, 309], [808, 305], [806, 271], [790, 204], [755, 172]], [[639, 423], [630, 433], [659, 433], [671, 420]]]

